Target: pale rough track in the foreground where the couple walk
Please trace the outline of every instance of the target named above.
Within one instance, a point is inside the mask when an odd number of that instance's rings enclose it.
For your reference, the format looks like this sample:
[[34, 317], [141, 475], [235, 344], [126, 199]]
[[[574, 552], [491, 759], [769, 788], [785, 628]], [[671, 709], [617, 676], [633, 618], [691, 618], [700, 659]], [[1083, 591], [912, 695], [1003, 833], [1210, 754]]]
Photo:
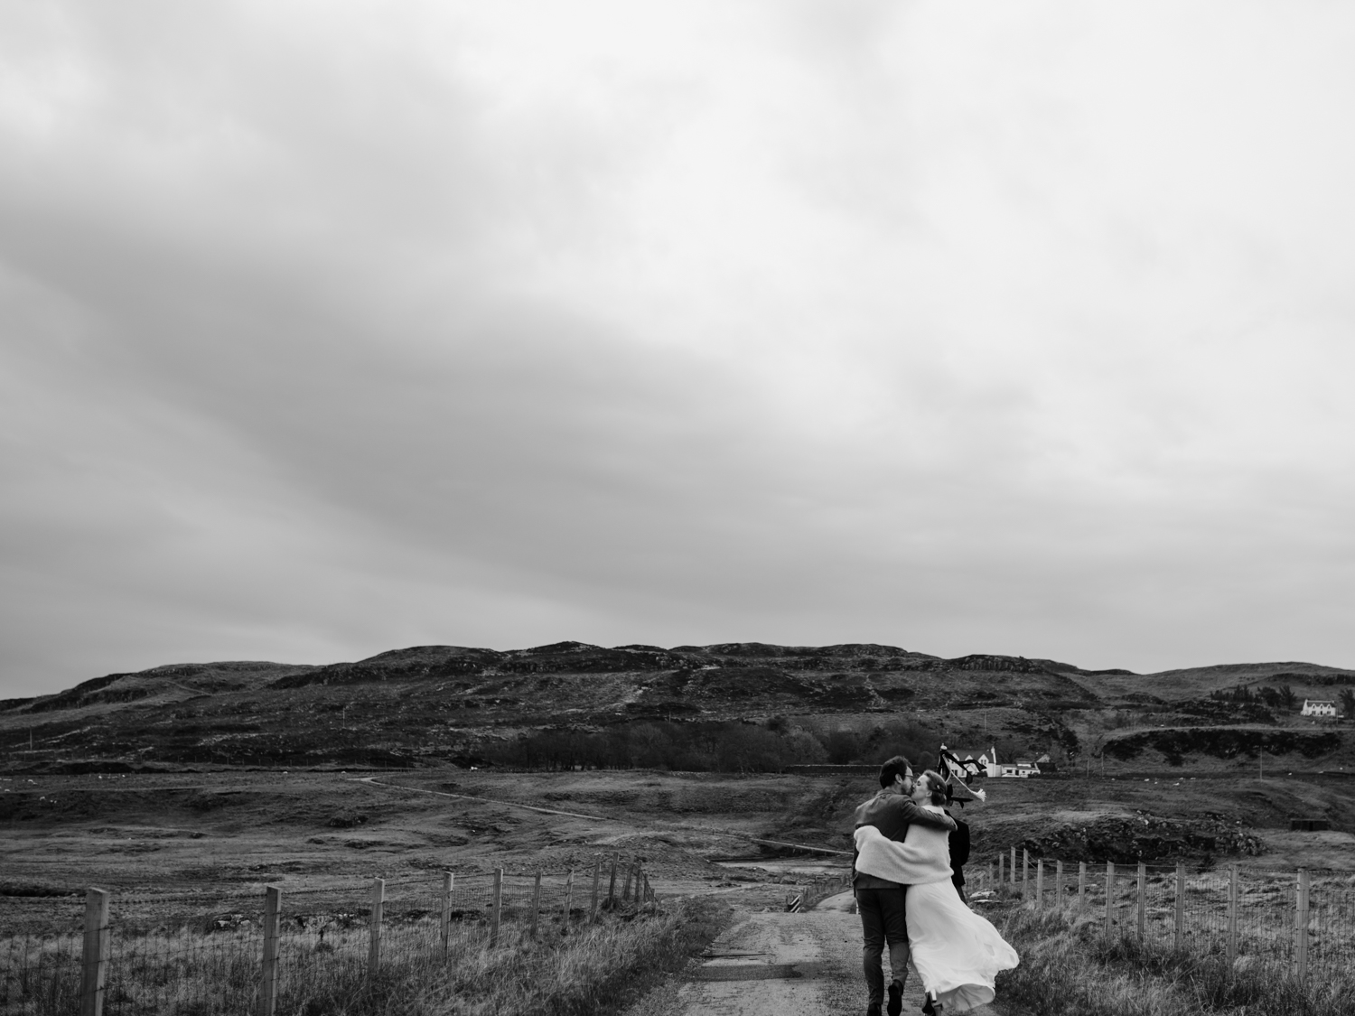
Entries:
[[[846, 901], [846, 894], [835, 897], [808, 913], [745, 914], [679, 989], [682, 1016], [860, 1016], [860, 923]], [[904, 1013], [921, 1005], [921, 985], [912, 977]], [[972, 1012], [996, 1016], [986, 1005]]]

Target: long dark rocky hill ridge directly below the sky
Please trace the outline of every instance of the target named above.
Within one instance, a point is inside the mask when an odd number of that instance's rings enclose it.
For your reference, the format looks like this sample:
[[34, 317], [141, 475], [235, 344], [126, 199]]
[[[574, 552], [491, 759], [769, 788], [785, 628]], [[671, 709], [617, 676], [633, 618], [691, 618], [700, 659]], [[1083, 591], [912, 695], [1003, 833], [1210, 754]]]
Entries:
[[718, 755], [721, 765], [771, 768], [875, 761], [898, 744], [921, 756], [946, 741], [1003, 757], [1047, 753], [1065, 771], [1093, 759], [1108, 772], [1226, 769], [1257, 752], [1355, 768], [1348, 734], [1331, 722], [1316, 740], [1247, 734], [1306, 721], [1224, 696], [1237, 685], [1336, 698], [1355, 687], [1355, 671], [1275, 662], [1135, 675], [873, 643], [415, 646], [328, 665], [176, 664], [9, 699], [0, 757], [80, 771], [439, 759], [686, 768]]

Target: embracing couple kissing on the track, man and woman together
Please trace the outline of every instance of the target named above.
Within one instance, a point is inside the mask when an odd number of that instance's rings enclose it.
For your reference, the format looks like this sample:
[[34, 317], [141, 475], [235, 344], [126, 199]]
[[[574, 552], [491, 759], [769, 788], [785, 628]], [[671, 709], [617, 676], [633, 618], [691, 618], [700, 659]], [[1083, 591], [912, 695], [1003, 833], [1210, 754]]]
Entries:
[[870, 1004], [881, 1016], [889, 944], [889, 1004], [902, 1011], [908, 967], [923, 981], [923, 1012], [957, 1013], [993, 1000], [993, 979], [1016, 966], [1016, 951], [976, 914], [951, 882], [948, 837], [955, 820], [946, 814], [946, 783], [927, 771], [913, 780], [901, 755], [879, 767], [881, 791], [856, 809], [852, 889], [864, 937], [863, 965]]

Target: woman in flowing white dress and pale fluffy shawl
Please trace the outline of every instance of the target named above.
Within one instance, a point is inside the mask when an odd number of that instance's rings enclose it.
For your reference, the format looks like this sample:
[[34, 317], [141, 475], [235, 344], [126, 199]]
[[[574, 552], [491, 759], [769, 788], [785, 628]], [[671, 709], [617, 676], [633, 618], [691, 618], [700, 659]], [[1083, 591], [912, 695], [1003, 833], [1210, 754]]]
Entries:
[[[946, 784], [928, 769], [913, 784], [919, 807], [942, 810]], [[856, 829], [856, 870], [908, 886], [909, 965], [927, 992], [924, 1013], [966, 1012], [993, 1000], [1000, 970], [1019, 962], [997, 929], [965, 906], [951, 883], [950, 851], [943, 829], [908, 826], [902, 843], [870, 825]]]

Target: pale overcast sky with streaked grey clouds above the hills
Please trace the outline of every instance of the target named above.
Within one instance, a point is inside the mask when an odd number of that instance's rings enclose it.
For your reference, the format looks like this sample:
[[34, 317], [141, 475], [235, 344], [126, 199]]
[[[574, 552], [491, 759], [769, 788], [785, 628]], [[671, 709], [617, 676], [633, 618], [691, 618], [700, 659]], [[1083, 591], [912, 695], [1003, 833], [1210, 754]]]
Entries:
[[0, 3], [0, 696], [1355, 666], [1355, 8]]

